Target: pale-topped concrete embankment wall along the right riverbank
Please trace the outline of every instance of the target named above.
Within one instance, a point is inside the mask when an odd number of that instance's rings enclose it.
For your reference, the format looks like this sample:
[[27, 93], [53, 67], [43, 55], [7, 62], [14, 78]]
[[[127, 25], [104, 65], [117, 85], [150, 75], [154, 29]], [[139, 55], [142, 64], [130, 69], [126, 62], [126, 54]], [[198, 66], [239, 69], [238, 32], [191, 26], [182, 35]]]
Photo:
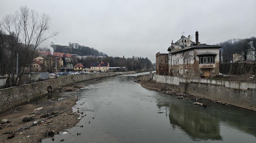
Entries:
[[161, 76], [153, 80], [170, 84], [175, 90], [256, 111], [256, 84], [212, 79]]

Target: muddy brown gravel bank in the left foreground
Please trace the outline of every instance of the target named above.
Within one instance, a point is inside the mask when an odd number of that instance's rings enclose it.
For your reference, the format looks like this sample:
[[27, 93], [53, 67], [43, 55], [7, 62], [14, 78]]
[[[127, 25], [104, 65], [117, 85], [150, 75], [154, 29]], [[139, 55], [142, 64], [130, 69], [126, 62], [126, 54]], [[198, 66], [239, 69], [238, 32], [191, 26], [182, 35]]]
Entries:
[[[32, 102], [2, 113], [0, 120], [7, 119], [10, 122], [0, 124], [0, 142], [37, 143], [44, 138], [58, 134], [59, 131], [74, 127], [79, 122], [79, 119], [77, 119], [79, 114], [72, 112], [72, 107], [76, 104], [76, 101], [77, 99], [70, 95], [69, 97], [65, 97], [65, 99], [57, 101], [43, 100]], [[40, 107], [43, 109], [34, 110]], [[49, 119], [22, 131], [17, 131], [20, 128], [27, 127], [45, 118]], [[3, 134], [10, 131], [16, 132]]]

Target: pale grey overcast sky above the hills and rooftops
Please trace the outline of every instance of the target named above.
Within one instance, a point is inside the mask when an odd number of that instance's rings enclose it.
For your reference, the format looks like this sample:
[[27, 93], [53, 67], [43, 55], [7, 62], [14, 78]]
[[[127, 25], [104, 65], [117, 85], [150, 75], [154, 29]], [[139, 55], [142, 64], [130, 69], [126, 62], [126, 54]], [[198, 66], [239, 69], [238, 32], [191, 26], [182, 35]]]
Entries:
[[256, 36], [256, 0], [0, 0], [0, 19], [22, 5], [51, 16], [51, 31], [59, 35], [49, 43], [152, 62], [183, 31], [195, 41], [198, 30], [207, 44]]

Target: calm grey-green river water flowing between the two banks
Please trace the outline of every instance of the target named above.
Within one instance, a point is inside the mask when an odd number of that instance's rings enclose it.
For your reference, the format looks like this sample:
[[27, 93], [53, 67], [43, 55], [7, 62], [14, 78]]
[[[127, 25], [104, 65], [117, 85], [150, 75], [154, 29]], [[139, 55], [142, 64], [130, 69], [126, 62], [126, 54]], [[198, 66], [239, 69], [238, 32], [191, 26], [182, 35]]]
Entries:
[[80, 100], [74, 110], [86, 116], [68, 134], [42, 142], [256, 143], [256, 112], [212, 102], [207, 105], [214, 108], [199, 107], [141, 87], [133, 82], [136, 75], [109, 77], [61, 93], [76, 95]]

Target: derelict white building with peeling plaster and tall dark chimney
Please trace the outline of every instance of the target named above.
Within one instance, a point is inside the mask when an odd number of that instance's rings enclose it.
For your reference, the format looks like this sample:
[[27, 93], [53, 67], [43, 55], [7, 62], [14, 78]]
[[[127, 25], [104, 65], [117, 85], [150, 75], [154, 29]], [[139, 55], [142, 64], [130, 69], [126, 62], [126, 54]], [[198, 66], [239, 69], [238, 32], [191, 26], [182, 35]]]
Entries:
[[169, 74], [184, 77], [209, 77], [219, 75], [219, 48], [209, 44], [200, 44], [198, 31], [195, 43], [190, 35], [171, 43], [169, 52]]

